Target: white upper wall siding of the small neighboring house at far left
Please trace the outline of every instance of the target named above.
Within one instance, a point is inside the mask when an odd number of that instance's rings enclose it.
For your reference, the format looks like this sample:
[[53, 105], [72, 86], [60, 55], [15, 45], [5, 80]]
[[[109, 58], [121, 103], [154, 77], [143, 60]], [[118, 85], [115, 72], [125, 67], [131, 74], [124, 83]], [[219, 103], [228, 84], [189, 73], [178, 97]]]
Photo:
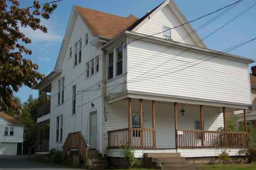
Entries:
[[[14, 128], [13, 136], [4, 136], [4, 128]], [[4, 118], [0, 117], [0, 143], [1, 142], [23, 142], [23, 129], [24, 126], [11, 125]]]

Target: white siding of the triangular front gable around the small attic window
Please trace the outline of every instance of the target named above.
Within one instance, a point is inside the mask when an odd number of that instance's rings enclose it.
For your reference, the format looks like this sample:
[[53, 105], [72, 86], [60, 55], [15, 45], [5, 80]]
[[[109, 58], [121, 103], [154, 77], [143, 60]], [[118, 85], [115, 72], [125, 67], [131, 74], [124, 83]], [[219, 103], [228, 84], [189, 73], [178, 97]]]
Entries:
[[[136, 32], [141, 34], [152, 35], [163, 31], [163, 26], [169, 26], [171, 28], [181, 25], [178, 18], [174, 15], [170, 7], [167, 5], [157, 12], [152, 18], [150, 18], [145, 24], [143, 24]], [[171, 39], [174, 41], [194, 45], [195, 42], [187, 36], [188, 32], [183, 26], [174, 28], [171, 30]], [[163, 33], [154, 35], [159, 38], [163, 38]]]

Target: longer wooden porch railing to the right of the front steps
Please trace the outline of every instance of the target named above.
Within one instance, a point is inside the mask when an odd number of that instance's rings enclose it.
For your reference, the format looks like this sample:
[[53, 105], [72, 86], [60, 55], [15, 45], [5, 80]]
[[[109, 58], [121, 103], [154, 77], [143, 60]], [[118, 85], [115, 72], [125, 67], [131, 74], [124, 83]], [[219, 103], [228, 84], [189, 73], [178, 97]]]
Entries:
[[177, 130], [178, 148], [247, 148], [248, 132]]

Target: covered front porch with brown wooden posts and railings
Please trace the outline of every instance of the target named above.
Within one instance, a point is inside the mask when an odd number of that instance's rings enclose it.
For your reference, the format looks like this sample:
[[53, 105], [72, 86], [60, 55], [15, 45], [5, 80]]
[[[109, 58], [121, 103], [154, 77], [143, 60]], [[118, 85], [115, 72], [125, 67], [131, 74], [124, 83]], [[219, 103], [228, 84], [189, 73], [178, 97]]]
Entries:
[[[148, 99], [128, 98], [118, 101], [126, 103], [126, 120], [120, 127], [108, 131], [108, 148], [122, 145], [138, 149], [173, 150], [192, 148], [247, 148], [249, 135], [245, 132], [226, 130], [226, 112], [230, 108]], [[113, 106], [114, 108], [115, 106]], [[120, 113], [121, 114], [121, 113]], [[128, 119], [127, 119], [128, 118]], [[244, 109], [246, 124], [246, 110]], [[172, 151], [173, 152], [173, 151]]]

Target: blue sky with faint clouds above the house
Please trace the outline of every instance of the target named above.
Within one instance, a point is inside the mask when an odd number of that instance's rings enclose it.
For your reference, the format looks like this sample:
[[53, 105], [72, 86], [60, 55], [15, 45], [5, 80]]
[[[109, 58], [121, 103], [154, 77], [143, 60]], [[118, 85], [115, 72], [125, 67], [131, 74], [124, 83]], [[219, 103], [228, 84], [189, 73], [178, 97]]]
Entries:
[[[188, 20], [203, 16], [235, 1], [237, 0], [175, 0]], [[39, 2], [43, 4], [50, 2], [50, 0], [39, 0]], [[152, 10], [162, 2], [163, 0], [64, 0], [58, 2], [58, 7], [50, 16], [50, 19], [42, 20], [42, 23], [48, 27], [47, 34], [20, 28], [20, 31], [23, 31], [26, 36], [32, 39], [32, 44], [27, 46], [32, 49], [32, 55], [25, 57], [30, 58], [34, 63], [38, 64], [39, 71], [42, 74], [47, 75], [53, 70], [73, 5], [125, 17], [133, 14], [140, 18], [148, 10]], [[200, 30], [198, 32], [199, 36], [204, 38], [254, 3], [255, 0], [244, 0], [235, 8]], [[32, 6], [32, 4], [33, 0], [20, 0], [20, 7]], [[192, 22], [191, 25], [196, 29], [217, 14]], [[256, 6], [204, 40], [204, 43], [210, 49], [221, 51], [256, 37], [255, 16]], [[230, 53], [256, 60], [256, 41], [246, 44]], [[250, 64], [250, 66], [253, 65], [255, 64]], [[21, 98], [22, 101], [26, 101], [30, 94], [37, 96], [38, 90], [31, 90], [23, 86], [14, 95]]]

